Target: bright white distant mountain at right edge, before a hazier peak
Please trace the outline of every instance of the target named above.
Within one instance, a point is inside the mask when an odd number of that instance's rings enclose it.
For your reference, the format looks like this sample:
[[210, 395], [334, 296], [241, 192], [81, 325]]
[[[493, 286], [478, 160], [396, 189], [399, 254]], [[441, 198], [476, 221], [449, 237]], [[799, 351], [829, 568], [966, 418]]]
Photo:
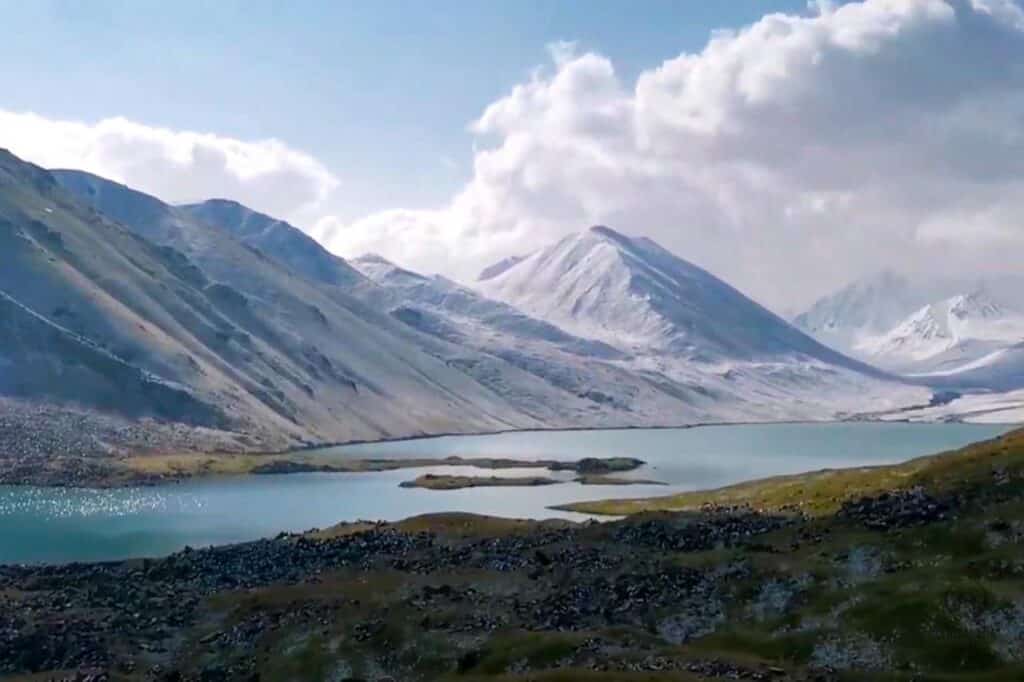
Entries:
[[856, 349], [882, 366], [914, 373], [955, 372], [1024, 341], [1024, 315], [984, 292], [926, 305]]

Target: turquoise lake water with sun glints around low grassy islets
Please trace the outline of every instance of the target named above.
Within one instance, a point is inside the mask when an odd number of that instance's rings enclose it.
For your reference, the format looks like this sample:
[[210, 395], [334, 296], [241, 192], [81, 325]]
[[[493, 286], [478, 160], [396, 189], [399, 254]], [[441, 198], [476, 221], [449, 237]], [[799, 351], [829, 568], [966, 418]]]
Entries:
[[509, 457], [578, 460], [636, 457], [637, 478], [669, 485], [427, 491], [398, 483], [426, 473], [528, 475], [544, 470], [483, 471], [431, 467], [377, 473], [222, 477], [159, 487], [112, 491], [0, 486], [0, 563], [158, 556], [186, 545], [254, 540], [283, 530], [357, 519], [397, 520], [463, 511], [521, 518], [579, 515], [549, 505], [649, 497], [717, 487], [813, 469], [901, 462], [996, 436], [1010, 427], [971, 424], [772, 424], [691, 429], [527, 431], [452, 436], [329, 449], [364, 458]]

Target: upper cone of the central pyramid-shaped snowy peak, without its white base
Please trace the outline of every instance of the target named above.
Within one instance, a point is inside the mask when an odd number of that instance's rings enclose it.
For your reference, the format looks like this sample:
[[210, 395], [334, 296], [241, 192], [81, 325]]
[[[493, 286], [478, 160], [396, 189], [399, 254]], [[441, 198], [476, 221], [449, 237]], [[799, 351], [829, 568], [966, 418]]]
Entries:
[[802, 354], [870, 372], [654, 242], [604, 226], [567, 237], [478, 288], [632, 350], [703, 363]]

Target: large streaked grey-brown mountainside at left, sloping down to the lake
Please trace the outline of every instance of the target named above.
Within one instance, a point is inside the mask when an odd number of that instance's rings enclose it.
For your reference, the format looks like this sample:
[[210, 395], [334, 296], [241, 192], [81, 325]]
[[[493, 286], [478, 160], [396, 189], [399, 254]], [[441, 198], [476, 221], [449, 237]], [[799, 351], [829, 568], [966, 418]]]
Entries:
[[544, 423], [408, 326], [185, 211], [0, 163], [4, 395], [226, 429], [262, 449]]

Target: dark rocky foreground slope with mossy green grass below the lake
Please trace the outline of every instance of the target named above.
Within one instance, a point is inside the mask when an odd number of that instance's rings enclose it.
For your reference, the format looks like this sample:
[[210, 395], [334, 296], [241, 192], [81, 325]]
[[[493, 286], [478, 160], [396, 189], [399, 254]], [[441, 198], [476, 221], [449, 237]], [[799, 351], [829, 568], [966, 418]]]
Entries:
[[438, 515], [0, 567], [0, 677], [1024, 677], [1024, 431], [802, 480], [608, 523]]

